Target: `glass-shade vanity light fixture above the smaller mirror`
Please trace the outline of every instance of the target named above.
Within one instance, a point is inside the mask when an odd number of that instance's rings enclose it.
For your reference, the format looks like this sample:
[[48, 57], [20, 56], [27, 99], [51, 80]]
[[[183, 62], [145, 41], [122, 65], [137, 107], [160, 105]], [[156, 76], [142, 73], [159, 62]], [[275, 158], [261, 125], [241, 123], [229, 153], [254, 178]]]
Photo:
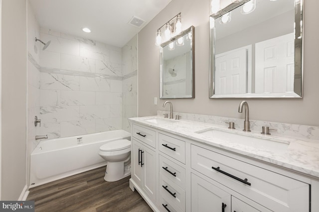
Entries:
[[[165, 24], [163, 24], [156, 33], [155, 45], [160, 46], [162, 42], [165, 42], [171, 38], [172, 35], [179, 34], [182, 30], [181, 27], [181, 13], [179, 12]], [[163, 32], [164, 39], [161, 37], [161, 32]]]

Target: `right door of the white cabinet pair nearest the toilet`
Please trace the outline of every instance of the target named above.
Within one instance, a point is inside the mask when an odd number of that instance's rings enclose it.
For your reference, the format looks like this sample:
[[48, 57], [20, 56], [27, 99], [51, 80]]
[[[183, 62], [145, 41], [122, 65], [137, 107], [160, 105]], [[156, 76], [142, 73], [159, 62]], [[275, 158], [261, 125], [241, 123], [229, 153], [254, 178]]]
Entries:
[[155, 202], [156, 191], [156, 154], [144, 146], [141, 153], [142, 168], [144, 169], [144, 191]]

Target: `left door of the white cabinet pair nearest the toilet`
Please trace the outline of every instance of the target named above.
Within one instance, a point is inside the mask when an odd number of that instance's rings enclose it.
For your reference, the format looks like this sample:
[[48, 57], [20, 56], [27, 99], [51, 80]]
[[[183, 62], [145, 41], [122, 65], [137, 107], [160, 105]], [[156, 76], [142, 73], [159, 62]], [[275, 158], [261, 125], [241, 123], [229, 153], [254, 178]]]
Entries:
[[131, 152], [131, 165], [132, 165], [132, 173], [131, 177], [132, 179], [140, 186], [142, 187], [142, 181], [143, 181], [143, 167], [141, 167], [141, 150], [142, 150], [142, 144], [137, 142], [135, 139], [133, 139], [132, 142], [132, 152]]

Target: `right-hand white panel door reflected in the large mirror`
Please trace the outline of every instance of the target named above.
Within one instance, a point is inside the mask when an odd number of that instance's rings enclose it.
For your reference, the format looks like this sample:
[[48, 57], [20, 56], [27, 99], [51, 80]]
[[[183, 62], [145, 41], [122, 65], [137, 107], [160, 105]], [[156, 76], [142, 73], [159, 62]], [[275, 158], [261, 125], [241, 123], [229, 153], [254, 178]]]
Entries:
[[255, 44], [256, 93], [294, 91], [294, 33]]

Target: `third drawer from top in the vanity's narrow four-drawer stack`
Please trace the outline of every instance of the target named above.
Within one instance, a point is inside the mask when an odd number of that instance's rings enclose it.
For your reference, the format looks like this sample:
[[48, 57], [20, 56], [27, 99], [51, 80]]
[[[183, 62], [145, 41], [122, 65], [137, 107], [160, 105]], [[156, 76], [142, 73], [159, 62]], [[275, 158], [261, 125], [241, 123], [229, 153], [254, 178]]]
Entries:
[[185, 211], [185, 191], [179, 186], [160, 175], [160, 197], [164, 198], [174, 208]]

